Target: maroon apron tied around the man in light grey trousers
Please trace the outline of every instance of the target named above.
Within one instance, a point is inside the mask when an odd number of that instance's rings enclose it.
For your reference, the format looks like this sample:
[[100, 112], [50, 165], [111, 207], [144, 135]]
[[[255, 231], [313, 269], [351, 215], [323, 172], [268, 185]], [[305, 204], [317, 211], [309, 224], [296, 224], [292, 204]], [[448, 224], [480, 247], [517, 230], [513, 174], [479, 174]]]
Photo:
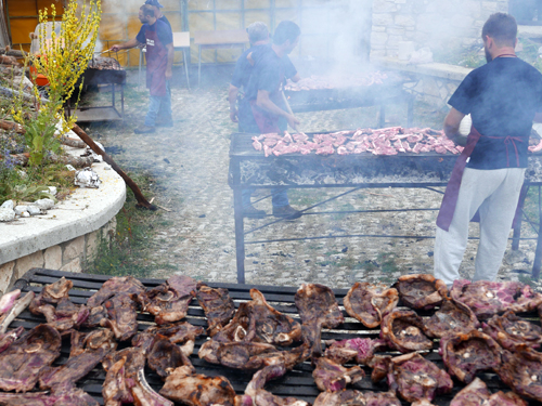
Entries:
[[[448, 232], [450, 230], [450, 224], [452, 223], [453, 213], [455, 212], [455, 206], [457, 205], [457, 196], [460, 194], [461, 180], [463, 178], [463, 172], [465, 171], [465, 167], [467, 165], [468, 157], [473, 154], [473, 150], [480, 140], [481, 135], [474, 127], [470, 127], [470, 133], [467, 136], [467, 145], [463, 148], [463, 152], [457, 157], [455, 165], [453, 167], [452, 175], [450, 176], [450, 181], [448, 182], [448, 186], [446, 187], [444, 197], [442, 198], [442, 204], [440, 205], [439, 214], [437, 217], [437, 225], [443, 231]], [[488, 136], [490, 139], [501, 139], [496, 136]], [[519, 155], [517, 154], [517, 147], [515, 141], [522, 142], [521, 139], [516, 136], [506, 136], [502, 137], [503, 142], [506, 145], [506, 159], [508, 159], [508, 145], [512, 143], [514, 145], [514, 152], [516, 155], [517, 166], [519, 167]], [[509, 167], [509, 160], [508, 160]], [[525, 185], [524, 185], [525, 189]], [[525, 195], [524, 189], [521, 191], [521, 195]], [[519, 199], [518, 208], [516, 209], [516, 217], [514, 218], [514, 224], [518, 219], [518, 214], [521, 214], [521, 198]], [[480, 215], [477, 211], [474, 218], [470, 221], [479, 222]]]

